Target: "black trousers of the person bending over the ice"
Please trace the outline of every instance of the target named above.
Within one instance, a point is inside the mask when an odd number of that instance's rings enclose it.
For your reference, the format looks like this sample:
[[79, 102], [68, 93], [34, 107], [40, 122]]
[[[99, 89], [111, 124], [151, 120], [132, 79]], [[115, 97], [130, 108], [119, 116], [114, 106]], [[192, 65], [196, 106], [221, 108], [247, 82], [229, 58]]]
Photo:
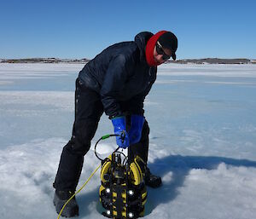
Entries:
[[[76, 81], [75, 91], [75, 121], [73, 136], [63, 147], [59, 168], [55, 177], [54, 187], [61, 191], [75, 191], [84, 163], [84, 155], [90, 149], [90, 141], [96, 133], [99, 120], [103, 113], [101, 96]], [[130, 118], [127, 118], [129, 126]], [[143, 125], [141, 141], [128, 149], [130, 160], [139, 155], [144, 162], [148, 161], [148, 122]]]

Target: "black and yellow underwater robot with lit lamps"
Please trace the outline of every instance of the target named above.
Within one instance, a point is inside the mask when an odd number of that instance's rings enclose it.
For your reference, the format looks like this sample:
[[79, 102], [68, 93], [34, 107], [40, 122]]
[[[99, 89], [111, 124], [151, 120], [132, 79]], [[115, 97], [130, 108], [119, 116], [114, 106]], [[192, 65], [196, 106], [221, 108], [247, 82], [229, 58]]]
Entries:
[[123, 164], [114, 152], [102, 160], [100, 201], [105, 209], [103, 216], [115, 219], [144, 216], [147, 189], [144, 184], [143, 159], [136, 156], [133, 162]]

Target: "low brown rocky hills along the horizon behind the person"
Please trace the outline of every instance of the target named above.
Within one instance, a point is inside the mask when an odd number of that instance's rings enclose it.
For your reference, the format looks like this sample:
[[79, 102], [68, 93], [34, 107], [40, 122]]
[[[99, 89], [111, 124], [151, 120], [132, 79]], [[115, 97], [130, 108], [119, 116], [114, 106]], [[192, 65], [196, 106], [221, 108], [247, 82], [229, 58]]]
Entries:
[[[0, 59], [0, 63], [87, 63], [88, 59], [58, 59], [58, 58], [31, 58], [31, 59]], [[256, 60], [249, 59], [185, 59], [178, 61], [167, 61], [177, 64], [256, 64]]]

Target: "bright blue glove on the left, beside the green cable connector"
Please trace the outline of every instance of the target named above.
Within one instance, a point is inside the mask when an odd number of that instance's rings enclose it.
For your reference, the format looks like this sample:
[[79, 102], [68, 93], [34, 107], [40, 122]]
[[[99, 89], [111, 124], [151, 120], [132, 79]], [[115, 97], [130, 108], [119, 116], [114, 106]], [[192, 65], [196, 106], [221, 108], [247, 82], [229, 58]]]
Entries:
[[119, 147], [126, 148], [129, 147], [129, 136], [126, 132], [126, 121], [125, 117], [112, 118], [113, 131], [116, 136], [116, 143]]

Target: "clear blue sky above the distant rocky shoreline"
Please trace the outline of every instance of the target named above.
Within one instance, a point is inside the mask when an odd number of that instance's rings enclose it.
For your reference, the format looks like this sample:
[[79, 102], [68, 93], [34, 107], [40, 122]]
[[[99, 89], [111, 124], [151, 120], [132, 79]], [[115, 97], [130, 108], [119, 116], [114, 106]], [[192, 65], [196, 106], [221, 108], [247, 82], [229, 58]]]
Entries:
[[93, 58], [138, 32], [172, 31], [177, 59], [256, 59], [256, 1], [2, 0], [0, 58]]

